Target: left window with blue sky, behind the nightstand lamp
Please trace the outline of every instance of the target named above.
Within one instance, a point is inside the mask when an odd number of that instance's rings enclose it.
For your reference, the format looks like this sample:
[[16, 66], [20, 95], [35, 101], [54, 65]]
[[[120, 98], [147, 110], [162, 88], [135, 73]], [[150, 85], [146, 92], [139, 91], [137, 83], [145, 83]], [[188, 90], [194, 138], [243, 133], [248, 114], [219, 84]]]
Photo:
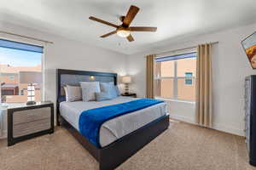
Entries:
[[[40, 46], [0, 39], [0, 102], [27, 101], [28, 83], [20, 75], [24, 72], [42, 74], [43, 51]], [[41, 84], [35, 84], [35, 100], [41, 100]]]

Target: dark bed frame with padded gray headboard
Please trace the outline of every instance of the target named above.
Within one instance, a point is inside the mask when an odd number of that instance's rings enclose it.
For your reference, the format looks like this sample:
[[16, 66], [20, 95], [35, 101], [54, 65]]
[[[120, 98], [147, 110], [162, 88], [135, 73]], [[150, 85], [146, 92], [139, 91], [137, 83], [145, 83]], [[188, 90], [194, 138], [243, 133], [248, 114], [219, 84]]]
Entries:
[[148, 144], [151, 140], [156, 138], [160, 133], [163, 133], [169, 127], [169, 116], [161, 116], [154, 122], [148, 123], [146, 126], [137, 129], [114, 141], [107, 146], [97, 148], [91, 144], [89, 140], [84, 138], [76, 128], [68, 123], [60, 115], [60, 103], [65, 101], [65, 94], [63, 93], [63, 86], [79, 85], [82, 81], [98, 81], [98, 82], [114, 82], [117, 84], [117, 74], [96, 72], [96, 71], [73, 71], [57, 69], [57, 125], [66, 127], [67, 130], [73, 134], [73, 137], [90, 152], [96, 161], [99, 162], [100, 170], [112, 170], [122, 164], [129, 157], [133, 156], [143, 146]]

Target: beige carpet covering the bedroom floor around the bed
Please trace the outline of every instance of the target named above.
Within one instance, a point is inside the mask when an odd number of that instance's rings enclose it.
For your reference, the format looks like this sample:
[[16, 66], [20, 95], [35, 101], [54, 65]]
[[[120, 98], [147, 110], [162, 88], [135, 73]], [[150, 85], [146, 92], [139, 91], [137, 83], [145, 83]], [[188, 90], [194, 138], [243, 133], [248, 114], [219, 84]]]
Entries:
[[[66, 129], [7, 147], [0, 141], [1, 170], [94, 170], [96, 160]], [[121, 169], [248, 170], [244, 139], [186, 123], [172, 126], [137, 152]], [[256, 168], [255, 168], [256, 169]]]

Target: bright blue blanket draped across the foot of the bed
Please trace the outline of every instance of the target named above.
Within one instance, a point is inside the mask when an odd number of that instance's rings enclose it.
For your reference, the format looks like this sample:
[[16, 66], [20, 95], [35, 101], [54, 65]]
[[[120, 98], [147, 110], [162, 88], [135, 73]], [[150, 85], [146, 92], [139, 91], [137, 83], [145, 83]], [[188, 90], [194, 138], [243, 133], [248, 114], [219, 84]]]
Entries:
[[104, 122], [117, 116], [122, 116], [132, 111], [144, 109], [164, 101], [157, 99], [136, 99], [130, 102], [108, 105], [96, 109], [83, 111], [79, 116], [79, 131], [92, 144], [100, 147], [99, 131]]

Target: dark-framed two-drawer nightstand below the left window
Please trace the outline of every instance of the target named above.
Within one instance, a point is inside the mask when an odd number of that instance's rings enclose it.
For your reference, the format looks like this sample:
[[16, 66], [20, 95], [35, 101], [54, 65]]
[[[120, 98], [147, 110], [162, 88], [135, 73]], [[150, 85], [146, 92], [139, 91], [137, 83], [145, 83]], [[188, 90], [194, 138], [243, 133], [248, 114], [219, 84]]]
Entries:
[[54, 105], [38, 102], [36, 105], [14, 104], [7, 108], [8, 145], [46, 133], [54, 133]]

